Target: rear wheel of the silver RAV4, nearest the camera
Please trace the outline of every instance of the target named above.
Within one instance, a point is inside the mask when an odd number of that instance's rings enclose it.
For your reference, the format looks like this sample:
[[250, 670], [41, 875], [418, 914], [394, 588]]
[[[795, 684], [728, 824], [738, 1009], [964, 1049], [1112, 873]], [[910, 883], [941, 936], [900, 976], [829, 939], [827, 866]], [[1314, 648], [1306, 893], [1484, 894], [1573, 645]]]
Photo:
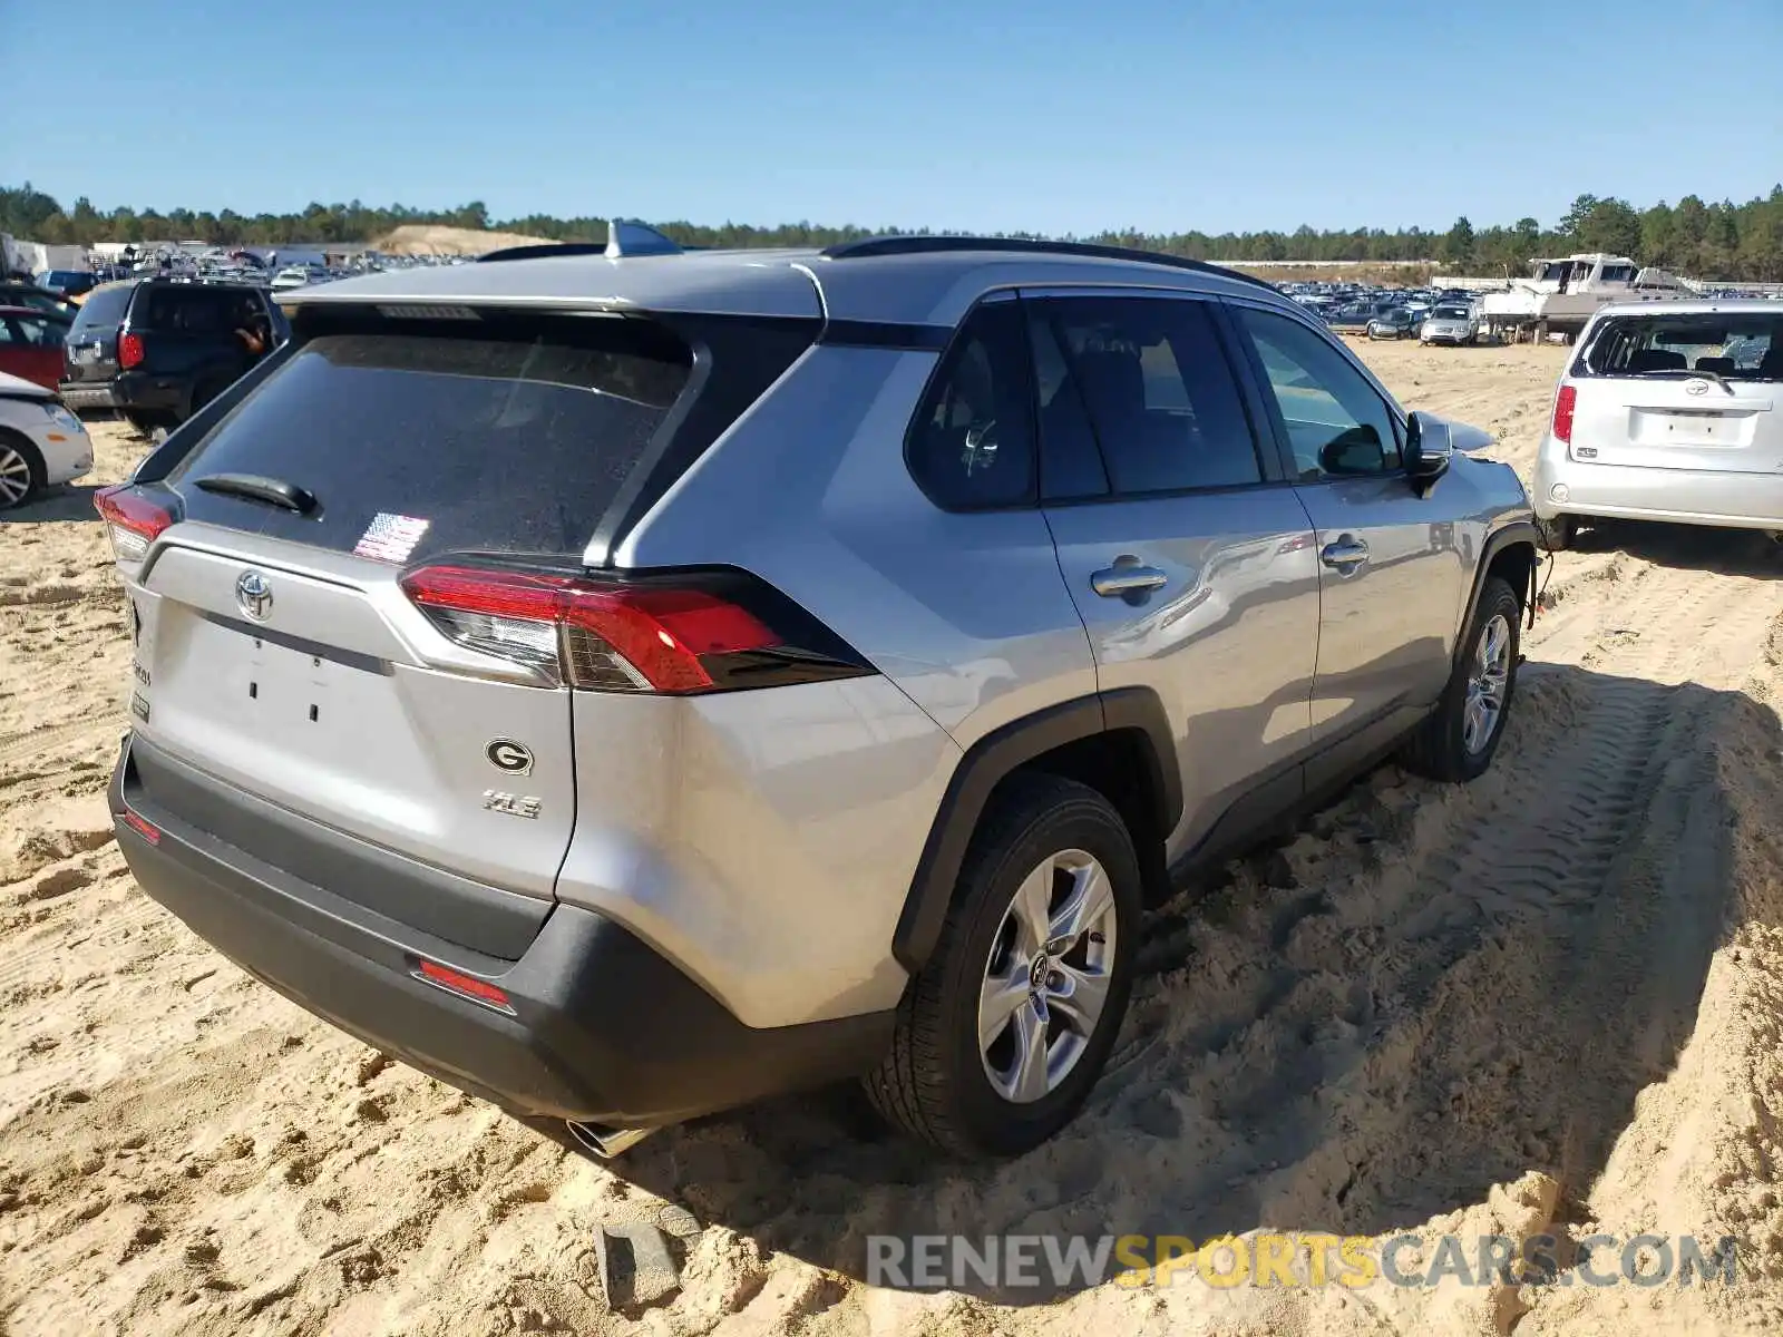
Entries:
[[1016, 774], [986, 808], [867, 1095], [965, 1159], [1020, 1155], [1088, 1100], [1132, 993], [1132, 836], [1097, 790]]

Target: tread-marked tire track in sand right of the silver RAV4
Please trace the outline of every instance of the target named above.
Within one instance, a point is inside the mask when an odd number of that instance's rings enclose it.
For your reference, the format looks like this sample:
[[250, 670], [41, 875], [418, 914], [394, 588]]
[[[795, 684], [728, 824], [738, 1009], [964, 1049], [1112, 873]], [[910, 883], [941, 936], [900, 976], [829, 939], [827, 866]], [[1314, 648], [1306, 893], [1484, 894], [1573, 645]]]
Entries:
[[[1327, 1093], [1369, 1134], [1341, 1180], [1335, 1157], [1309, 1161], [1298, 1193], [1371, 1226], [1532, 1164], [1589, 1187], [1692, 1025], [1726, 888], [1713, 743], [1779, 608], [1767, 579], [1649, 567], [1576, 665], [1532, 661], [1535, 708], [1507, 742], [1537, 745], [1500, 754], [1487, 802], [1451, 790], [1442, 838], [1378, 879], [1423, 897], [1389, 929], [1401, 1004], [1376, 1048], [1403, 1062]], [[1368, 1118], [1384, 1103], [1393, 1120]]]

